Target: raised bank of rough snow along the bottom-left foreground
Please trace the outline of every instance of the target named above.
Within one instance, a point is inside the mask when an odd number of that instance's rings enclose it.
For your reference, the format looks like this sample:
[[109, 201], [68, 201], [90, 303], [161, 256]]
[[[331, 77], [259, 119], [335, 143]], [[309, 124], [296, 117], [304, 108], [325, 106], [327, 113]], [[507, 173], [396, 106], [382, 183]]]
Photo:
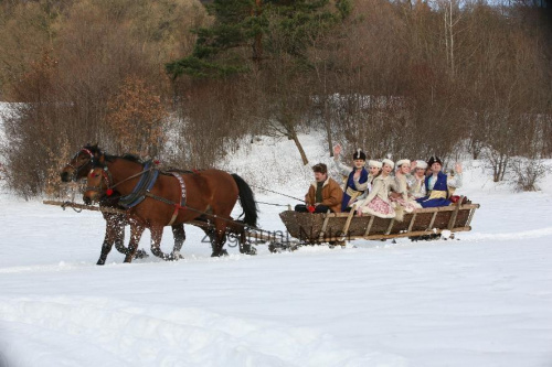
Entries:
[[[403, 365], [399, 356], [347, 350], [330, 335], [309, 328], [109, 299], [0, 299], [0, 361], [10, 367], [50, 361], [87, 366], [97, 356], [105, 366]], [[34, 343], [44, 339], [57, 354], [29, 357]], [[76, 345], [77, 354], [72, 349]]]

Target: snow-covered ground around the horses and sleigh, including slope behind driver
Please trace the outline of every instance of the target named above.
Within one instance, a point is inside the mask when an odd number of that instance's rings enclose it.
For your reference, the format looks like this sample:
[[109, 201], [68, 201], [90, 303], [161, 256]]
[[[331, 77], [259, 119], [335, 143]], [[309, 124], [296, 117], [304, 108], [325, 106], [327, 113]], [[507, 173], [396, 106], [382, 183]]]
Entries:
[[[291, 196], [309, 180], [289, 141], [256, 142], [225, 166], [262, 185], [273, 174], [268, 187]], [[104, 267], [98, 213], [2, 191], [0, 366], [552, 366], [551, 177], [512, 194], [480, 162], [465, 169], [461, 192], [481, 208], [459, 240], [212, 259], [187, 227], [182, 261], [124, 265], [114, 249]], [[282, 207], [261, 209], [262, 227], [284, 229]]]

